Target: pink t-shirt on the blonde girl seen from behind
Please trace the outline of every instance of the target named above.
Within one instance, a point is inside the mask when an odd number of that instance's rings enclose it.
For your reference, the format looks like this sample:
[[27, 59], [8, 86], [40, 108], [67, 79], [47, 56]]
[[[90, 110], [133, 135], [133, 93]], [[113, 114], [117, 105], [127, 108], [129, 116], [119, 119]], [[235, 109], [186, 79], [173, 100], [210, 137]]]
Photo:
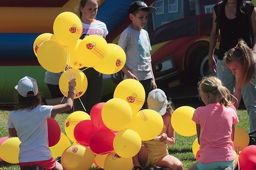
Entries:
[[239, 122], [236, 108], [212, 103], [198, 107], [192, 120], [201, 126], [200, 157], [201, 163], [233, 161], [234, 145], [231, 140], [232, 125]]

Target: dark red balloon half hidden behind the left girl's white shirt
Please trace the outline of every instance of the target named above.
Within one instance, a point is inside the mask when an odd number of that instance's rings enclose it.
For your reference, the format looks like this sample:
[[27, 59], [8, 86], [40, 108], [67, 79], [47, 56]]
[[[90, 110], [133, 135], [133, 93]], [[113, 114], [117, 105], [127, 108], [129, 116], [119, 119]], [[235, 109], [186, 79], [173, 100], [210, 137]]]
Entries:
[[52, 117], [47, 119], [49, 147], [54, 146], [61, 139], [61, 127]]

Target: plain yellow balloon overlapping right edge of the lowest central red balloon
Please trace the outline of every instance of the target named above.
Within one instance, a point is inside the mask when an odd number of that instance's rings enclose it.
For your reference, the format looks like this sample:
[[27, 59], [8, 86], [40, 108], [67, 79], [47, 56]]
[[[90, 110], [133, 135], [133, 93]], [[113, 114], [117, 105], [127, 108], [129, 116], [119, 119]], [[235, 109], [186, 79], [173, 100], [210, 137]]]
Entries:
[[124, 129], [116, 134], [113, 140], [116, 153], [123, 158], [131, 158], [140, 151], [140, 135], [131, 129]]

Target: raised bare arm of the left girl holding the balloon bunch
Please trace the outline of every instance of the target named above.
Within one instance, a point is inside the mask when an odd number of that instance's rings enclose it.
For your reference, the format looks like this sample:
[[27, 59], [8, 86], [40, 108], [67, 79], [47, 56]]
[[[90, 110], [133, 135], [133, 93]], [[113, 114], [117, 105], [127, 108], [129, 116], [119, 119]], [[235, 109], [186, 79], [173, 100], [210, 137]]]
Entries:
[[69, 91], [68, 91], [66, 102], [61, 105], [53, 106], [51, 114], [57, 114], [57, 113], [61, 113], [64, 111], [68, 111], [73, 107], [74, 88], [76, 87], [76, 79], [70, 80], [70, 82], [68, 82], [68, 84], [69, 84]]

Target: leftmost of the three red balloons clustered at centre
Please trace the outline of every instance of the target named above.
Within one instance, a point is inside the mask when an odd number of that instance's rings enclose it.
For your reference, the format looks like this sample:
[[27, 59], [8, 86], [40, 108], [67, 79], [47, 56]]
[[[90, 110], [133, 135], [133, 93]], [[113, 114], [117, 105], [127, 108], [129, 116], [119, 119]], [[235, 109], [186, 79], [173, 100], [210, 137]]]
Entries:
[[99, 128], [94, 126], [91, 120], [82, 120], [74, 128], [76, 142], [89, 146], [90, 136], [98, 130]]

